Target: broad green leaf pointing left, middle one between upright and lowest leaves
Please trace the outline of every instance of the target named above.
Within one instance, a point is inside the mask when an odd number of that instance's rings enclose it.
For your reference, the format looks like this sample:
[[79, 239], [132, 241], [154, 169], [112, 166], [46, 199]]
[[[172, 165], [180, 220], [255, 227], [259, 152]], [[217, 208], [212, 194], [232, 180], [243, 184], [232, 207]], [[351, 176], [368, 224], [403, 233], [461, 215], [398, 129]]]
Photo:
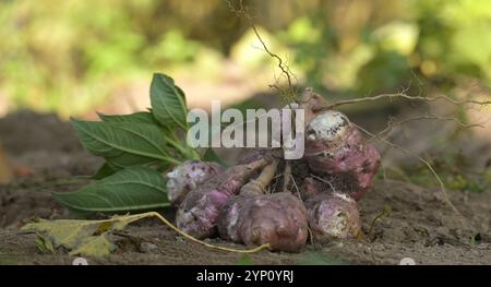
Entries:
[[[116, 160], [123, 154], [131, 154], [133, 159], [134, 156], [139, 157], [137, 163], [159, 159], [179, 164], [178, 160], [169, 157], [165, 150], [166, 141], [163, 131], [156, 125], [74, 119], [72, 119], [72, 123], [82, 145], [93, 155]], [[128, 158], [124, 157], [124, 159]], [[133, 162], [131, 165], [134, 165]]]

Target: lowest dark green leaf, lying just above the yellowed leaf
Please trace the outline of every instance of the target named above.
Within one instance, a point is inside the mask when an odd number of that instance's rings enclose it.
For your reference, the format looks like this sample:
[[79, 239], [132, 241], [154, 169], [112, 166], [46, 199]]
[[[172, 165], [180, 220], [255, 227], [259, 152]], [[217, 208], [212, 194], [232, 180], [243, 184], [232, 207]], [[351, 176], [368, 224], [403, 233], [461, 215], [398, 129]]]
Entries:
[[148, 167], [130, 167], [75, 192], [53, 193], [60, 204], [82, 212], [129, 212], [169, 206], [164, 177]]

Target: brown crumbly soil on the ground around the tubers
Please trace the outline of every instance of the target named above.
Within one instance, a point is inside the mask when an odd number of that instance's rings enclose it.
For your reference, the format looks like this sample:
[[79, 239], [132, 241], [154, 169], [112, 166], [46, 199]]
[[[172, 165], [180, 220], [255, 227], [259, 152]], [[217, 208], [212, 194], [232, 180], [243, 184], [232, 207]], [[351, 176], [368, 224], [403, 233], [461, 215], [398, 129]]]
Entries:
[[[35, 235], [20, 227], [36, 217], [70, 217], [50, 192], [86, 184], [80, 176], [92, 175], [100, 159], [87, 155], [70, 123], [55, 116], [23, 111], [0, 119], [0, 142], [14, 167], [24, 170], [12, 183], [0, 187], [0, 264], [72, 264], [74, 258], [61, 250], [40, 253]], [[438, 189], [378, 180], [359, 202], [364, 236], [309, 243], [297, 254], [264, 250], [240, 255], [211, 250], [148, 219], [115, 235], [118, 249], [112, 254], [87, 260], [89, 264], [399, 264], [411, 258], [416, 264], [491, 264], [491, 191], [447, 194], [462, 215], [444, 203]], [[172, 211], [164, 214], [172, 218]], [[243, 248], [219, 239], [209, 241]]]

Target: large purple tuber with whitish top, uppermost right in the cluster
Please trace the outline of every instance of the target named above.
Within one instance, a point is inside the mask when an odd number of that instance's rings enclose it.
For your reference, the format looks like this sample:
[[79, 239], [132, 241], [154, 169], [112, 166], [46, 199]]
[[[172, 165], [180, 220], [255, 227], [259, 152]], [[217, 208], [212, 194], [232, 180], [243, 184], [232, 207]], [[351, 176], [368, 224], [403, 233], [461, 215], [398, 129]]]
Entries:
[[311, 171], [348, 179], [348, 193], [359, 200], [371, 187], [380, 154], [339, 111], [316, 115], [307, 127], [306, 155]]

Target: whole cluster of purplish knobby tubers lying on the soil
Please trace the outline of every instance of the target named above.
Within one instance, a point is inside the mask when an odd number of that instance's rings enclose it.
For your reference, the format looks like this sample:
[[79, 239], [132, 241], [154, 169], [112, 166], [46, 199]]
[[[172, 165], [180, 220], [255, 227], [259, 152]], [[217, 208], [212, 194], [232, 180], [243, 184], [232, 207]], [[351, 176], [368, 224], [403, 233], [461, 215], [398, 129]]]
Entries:
[[[219, 236], [248, 246], [298, 252], [309, 236], [324, 241], [355, 238], [361, 223], [356, 201], [370, 189], [380, 154], [339, 111], [306, 91], [306, 153], [290, 163], [303, 176], [296, 189], [277, 189], [285, 166], [275, 151], [253, 151], [238, 165], [185, 162], [167, 174], [169, 200], [178, 206], [177, 226], [203, 239]], [[299, 184], [297, 184], [299, 183]]]

